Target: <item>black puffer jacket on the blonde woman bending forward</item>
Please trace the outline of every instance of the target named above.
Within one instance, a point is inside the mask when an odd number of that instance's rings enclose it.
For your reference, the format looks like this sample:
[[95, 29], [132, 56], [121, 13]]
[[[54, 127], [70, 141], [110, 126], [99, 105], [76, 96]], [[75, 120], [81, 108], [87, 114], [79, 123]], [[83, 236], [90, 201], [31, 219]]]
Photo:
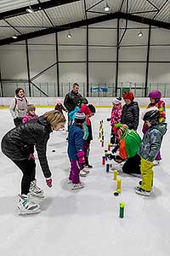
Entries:
[[37, 155], [45, 177], [50, 177], [46, 156], [51, 125], [42, 116], [15, 127], [3, 137], [1, 147], [3, 154], [11, 160], [26, 160], [32, 153], [32, 145], [37, 145]]

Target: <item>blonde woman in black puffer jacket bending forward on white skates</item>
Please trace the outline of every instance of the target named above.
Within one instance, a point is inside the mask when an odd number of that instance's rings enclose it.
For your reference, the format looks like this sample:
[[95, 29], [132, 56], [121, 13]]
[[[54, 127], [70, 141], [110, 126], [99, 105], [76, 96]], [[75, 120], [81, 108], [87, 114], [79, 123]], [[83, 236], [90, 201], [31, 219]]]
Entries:
[[[48, 187], [52, 186], [51, 172], [46, 156], [49, 134], [58, 131], [65, 125], [65, 117], [59, 111], [53, 110], [44, 113], [38, 119], [15, 127], [3, 137], [1, 147], [3, 154], [18, 166], [23, 173], [21, 194], [18, 208], [20, 214], [40, 212], [40, 206], [30, 201], [29, 195], [44, 197], [35, 180], [36, 163], [31, 157], [32, 145], [36, 145], [37, 155], [46, 178]], [[29, 195], [28, 195], [29, 194]]]

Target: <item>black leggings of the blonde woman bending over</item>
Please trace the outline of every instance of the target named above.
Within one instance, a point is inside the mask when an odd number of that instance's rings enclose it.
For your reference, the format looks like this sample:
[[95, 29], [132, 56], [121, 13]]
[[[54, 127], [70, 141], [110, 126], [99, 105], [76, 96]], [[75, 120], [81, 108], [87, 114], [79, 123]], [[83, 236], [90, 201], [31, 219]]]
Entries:
[[36, 163], [35, 160], [13, 160], [23, 173], [21, 180], [21, 195], [27, 195], [30, 189], [31, 181], [35, 180]]

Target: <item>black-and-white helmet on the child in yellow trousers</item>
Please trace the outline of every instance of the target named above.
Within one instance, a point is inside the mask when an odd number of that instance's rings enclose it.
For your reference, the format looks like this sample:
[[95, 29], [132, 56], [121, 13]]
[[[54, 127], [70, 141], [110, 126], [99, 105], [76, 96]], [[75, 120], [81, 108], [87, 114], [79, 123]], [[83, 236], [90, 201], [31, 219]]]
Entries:
[[143, 120], [149, 121], [151, 125], [156, 125], [159, 123], [160, 113], [157, 108], [148, 108], [144, 113]]

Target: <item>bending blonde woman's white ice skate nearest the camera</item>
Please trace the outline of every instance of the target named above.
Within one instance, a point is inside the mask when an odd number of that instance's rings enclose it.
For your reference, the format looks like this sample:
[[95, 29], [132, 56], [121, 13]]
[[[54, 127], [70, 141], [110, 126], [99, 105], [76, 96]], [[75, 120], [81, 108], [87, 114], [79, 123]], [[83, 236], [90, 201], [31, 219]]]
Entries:
[[20, 215], [34, 214], [41, 212], [40, 206], [30, 200], [29, 195], [19, 195], [18, 209]]

